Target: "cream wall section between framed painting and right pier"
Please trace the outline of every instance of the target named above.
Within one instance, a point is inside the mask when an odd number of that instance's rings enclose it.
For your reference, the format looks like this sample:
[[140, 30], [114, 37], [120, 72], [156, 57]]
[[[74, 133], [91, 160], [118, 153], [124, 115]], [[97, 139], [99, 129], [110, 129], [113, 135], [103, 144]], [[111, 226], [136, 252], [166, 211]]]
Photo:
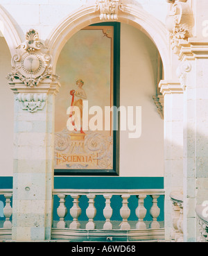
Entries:
[[121, 105], [142, 108], [142, 132], [120, 134], [121, 176], [164, 176], [163, 120], [153, 102], [157, 49], [144, 33], [121, 24]]

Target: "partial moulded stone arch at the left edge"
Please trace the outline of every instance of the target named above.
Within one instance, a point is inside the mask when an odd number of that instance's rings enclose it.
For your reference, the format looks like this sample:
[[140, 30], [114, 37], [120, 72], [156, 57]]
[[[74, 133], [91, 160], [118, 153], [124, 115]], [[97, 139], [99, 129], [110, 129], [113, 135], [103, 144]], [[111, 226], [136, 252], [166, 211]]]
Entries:
[[21, 39], [15, 26], [12, 24], [10, 17], [6, 14], [3, 8], [0, 6], [0, 21], [3, 24], [3, 36], [8, 44], [11, 56], [15, 55], [15, 48], [21, 44]]

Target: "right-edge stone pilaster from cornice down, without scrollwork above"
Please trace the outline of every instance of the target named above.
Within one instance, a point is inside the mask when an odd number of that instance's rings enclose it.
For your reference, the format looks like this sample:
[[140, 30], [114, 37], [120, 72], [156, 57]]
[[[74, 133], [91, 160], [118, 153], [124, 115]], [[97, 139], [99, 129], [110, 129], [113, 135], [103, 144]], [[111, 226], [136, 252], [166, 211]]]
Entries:
[[196, 205], [208, 198], [208, 42], [189, 39], [180, 51], [184, 83], [184, 241], [196, 241]]

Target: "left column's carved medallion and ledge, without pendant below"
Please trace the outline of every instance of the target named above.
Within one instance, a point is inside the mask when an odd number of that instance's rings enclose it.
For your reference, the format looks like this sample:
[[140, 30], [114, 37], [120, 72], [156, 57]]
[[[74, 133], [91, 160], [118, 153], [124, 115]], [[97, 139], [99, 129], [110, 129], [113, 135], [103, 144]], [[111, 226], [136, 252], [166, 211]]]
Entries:
[[[12, 56], [12, 71], [7, 76], [14, 92], [33, 89], [51, 92], [51, 85], [58, 84], [53, 74], [49, 49], [39, 40], [37, 31], [30, 29], [26, 41], [17, 46]], [[55, 91], [54, 91], [55, 92]]]

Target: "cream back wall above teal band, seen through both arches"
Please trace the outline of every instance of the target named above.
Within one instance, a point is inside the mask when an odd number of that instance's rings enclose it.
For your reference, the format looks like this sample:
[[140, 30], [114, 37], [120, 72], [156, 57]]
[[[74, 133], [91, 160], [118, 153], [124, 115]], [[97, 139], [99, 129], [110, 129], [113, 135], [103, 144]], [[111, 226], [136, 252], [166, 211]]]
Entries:
[[[6, 75], [10, 53], [0, 37], [0, 176], [12, 176], [13, 94]], [[129, 139], [121, 131], [120, 176], [163, 176], [163, 120], [153, 102], [157, 49], [144, 33], [121, 24], [121, 105], [141, 105], [142, 133]]]

